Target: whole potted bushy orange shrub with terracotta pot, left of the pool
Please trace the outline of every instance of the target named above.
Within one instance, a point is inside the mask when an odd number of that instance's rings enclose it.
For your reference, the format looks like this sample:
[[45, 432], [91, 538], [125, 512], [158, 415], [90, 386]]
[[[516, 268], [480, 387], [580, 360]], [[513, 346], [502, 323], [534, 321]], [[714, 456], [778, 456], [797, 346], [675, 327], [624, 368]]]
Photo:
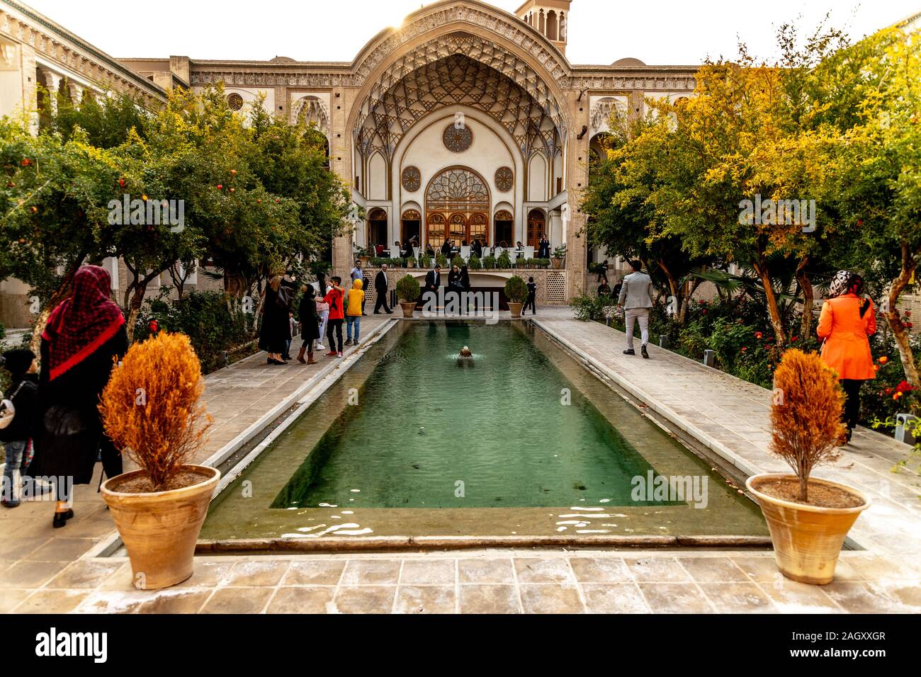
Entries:
[[102, 391], [106, 434], [139, 467], [101, 488], [136, 588], [167, 588], [192, 576], [195, 542], [221, 476], [188, 462], [211, 425], [198, 402], [203, 390], [189, 337], [162, 332], [133, 344]]

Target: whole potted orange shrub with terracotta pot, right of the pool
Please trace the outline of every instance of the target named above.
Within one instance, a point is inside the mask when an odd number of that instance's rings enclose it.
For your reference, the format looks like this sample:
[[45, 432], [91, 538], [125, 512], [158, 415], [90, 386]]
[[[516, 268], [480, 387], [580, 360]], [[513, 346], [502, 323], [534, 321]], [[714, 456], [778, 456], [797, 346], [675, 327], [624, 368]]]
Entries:
[[777, 567], [787, 578], [825, 585], [847, 531], [869, 508], [869, 497], [845, 484], [811, 477], [835, 461], [845, 433], [844, 392], [837, 374], [816, 353], [787, 350], [774, 373], [770, 449], [793, 468], [753, 475], [746, 482], [767, 520]]

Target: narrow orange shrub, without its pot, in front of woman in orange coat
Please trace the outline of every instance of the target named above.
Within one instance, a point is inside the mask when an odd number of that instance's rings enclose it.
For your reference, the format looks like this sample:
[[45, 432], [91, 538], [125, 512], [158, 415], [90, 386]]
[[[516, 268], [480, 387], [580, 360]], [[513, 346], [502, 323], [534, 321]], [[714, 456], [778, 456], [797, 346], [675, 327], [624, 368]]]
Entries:
[[808, 499], [812, 468], [836, 461], [846, 428], [845, 394], [833, 369], [817, 353], [791, 349], [774, 372], [771, 451], [799, 477], [799, 500]]

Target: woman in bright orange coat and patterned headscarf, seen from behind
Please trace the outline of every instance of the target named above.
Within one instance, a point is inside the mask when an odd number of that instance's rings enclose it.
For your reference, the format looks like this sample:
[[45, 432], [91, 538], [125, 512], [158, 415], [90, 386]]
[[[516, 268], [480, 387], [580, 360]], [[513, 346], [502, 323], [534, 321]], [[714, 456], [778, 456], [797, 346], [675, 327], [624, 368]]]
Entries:
[[828, 290], [819, 317], [822, 362], [833, 368], [845, 389], [844, 422], [847, 441], [860, 414], [860, 386], [876, 378], [868, 336], [876, 333], [876, 311], [869, 298], [862, 298], [863, 278], [840, 271]]

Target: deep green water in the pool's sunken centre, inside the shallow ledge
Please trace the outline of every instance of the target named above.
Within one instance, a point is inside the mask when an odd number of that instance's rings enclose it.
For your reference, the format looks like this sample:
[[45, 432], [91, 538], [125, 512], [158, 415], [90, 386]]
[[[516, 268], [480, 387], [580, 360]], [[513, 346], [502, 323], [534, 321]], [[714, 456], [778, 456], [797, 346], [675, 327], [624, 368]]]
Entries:
[[624, 506], [650, 470], [527, 334], [414, 322], [272, 507]]

